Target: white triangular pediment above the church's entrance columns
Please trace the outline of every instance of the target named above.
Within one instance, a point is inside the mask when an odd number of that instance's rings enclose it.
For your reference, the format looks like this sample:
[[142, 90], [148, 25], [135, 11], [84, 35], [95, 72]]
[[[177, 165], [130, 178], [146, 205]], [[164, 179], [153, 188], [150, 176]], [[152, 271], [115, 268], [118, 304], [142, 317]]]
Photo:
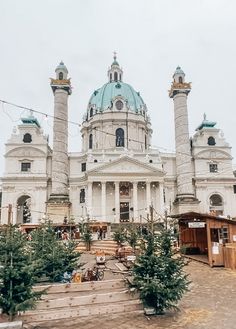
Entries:
[[124, 156], [116, 159], [112, 162], [104, 164], [96, 169], [88, 171], [89, 174], [112, 174], [112, 175], [155, 175], [162, 177], [164, 173], [161, 170], [156, 169], [154, 166], [143, 163], [136, 159]]

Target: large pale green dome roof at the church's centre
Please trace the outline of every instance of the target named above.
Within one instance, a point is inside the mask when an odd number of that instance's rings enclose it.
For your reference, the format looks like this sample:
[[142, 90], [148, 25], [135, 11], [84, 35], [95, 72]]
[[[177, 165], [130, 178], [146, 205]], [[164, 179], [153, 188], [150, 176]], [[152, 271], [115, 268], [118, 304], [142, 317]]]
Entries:
[[128, 107], [133, 112], [146, 109], [139, 92], [122, 81], [108, 82], [102, 88], [95, 90], [89, 100], [89, 107], [95, 106], [97, 111], [103, 112], [110, 108], [113, 100], [119, 96], [127, 102]]

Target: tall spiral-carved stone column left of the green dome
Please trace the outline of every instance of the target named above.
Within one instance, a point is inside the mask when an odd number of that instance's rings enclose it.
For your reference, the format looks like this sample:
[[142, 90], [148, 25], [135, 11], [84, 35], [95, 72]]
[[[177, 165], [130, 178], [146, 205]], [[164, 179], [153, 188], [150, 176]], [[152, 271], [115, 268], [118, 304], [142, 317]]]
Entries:
[[56, 67], [56, 78], [51, 79], [54, 94], [52, 191], [47, 203], [47, 213], [53, 221], [69, 217], [70, 201], [68, 190], [68, 96], [71, 83], [63, 62]]

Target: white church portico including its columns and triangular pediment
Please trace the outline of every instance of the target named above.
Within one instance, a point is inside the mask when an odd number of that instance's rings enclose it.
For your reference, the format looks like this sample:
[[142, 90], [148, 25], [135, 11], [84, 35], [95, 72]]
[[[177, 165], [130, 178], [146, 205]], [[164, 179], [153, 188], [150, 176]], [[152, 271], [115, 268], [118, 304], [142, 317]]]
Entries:
[[[164, 174], [149, 164], [124, 156], [87, 172], [85, 199], [72, 212], [90, 220], [139, 222], [152, 205], [164, 214]], [[74, 192], [78, 199], [78, 193]], [[77, 193], [77, 197], [76, 197]]]

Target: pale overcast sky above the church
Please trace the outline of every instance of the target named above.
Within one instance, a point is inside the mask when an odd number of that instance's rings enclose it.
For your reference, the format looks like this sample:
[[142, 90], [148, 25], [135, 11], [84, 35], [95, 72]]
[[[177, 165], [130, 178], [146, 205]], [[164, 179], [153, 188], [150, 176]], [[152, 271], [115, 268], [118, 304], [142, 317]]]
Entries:
[[[63, 60], [73, 85], [69, 118], [81, 123], [92, 92], [107, 82], [115, 50], [124, 82], [148, 107], [153, 146], [173, 151], [168, 89], [180, 65], [192, 82], [190, 135], [205, 112], [236, 157], [235, 33], [235, 0], [0, 0], [0, 99], [53, 114], [49, 78]], [[0, 103], [0, 176], [4, 143], [27, 115]], [[52, 144], [52, 120], [37, 118]], [[80, 151], [78, 127], [69, 130], [69, 150]]]

